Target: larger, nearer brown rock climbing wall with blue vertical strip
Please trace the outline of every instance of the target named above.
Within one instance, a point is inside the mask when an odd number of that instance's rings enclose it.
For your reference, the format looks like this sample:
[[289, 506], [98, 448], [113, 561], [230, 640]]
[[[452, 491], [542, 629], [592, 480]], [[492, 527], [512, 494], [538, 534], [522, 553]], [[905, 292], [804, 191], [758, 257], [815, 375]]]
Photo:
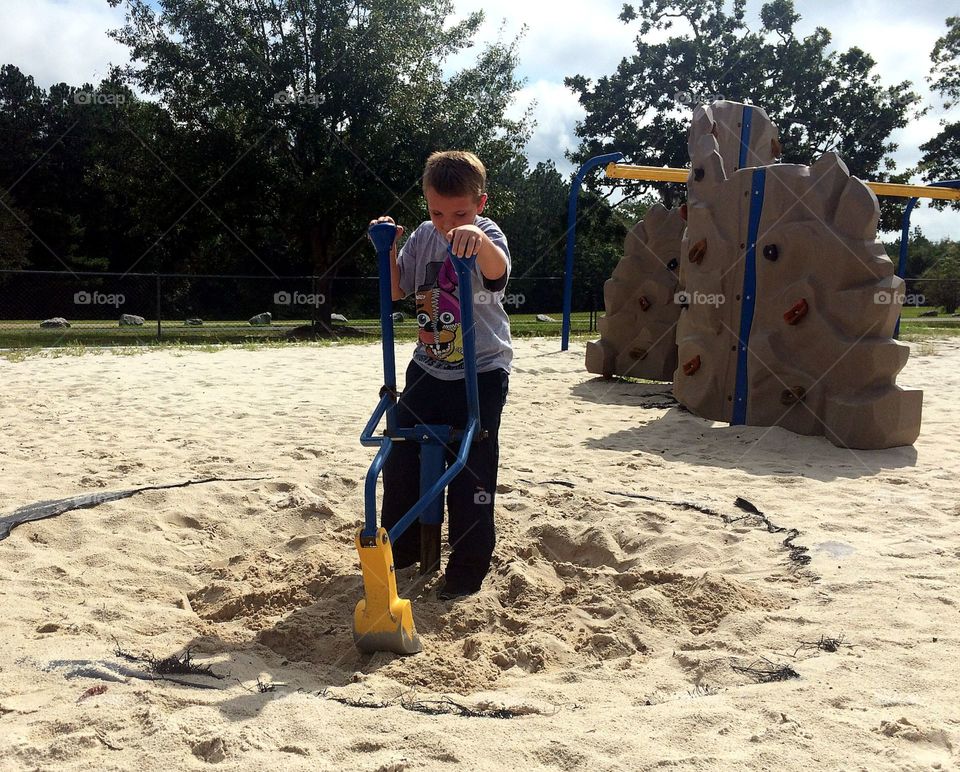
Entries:
[[690, 136], [677, 399], [705, 418], [851, 448], [913, 443], [922, 392], [895, 383], [904, 285], [876, 241], [873, 192], [832, 153], [727, 175], [706, 126]]

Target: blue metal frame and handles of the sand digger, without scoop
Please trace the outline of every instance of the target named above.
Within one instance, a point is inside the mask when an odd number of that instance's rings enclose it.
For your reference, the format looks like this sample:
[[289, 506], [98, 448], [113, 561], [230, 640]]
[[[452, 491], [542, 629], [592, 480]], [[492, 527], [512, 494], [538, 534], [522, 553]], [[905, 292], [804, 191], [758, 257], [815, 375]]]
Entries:
[[[383, 465], [390, 455], [394, 442], [420, 442], [422, 444], [420, 499], [390, 529], [390, 541], [395, 542], [407, 528], [423, 516], [423, 521], [439, 523], [443, 516], [444, 488], [467, 464], [470, 446], [480, 434], [480, 396], [477, 390], [476, 335], [473, 320], [473, 269], [476, 255], [470, 258], [453, 257], [448, 247], [453, 267], [457, 271], [457, 284], [460, 291], [460, 331], [463, 335], [463, 369], [467, 391], [467, 425], [462, 434], [449, 426], [418, 424], [399, 429], [396, 426], [397, 375], [394, 359], [393, 333], [393, 288], [390, 279], [390, 250], [396, 237], [396, 226], [390, 223], [378, 223], [370, 227], [370, 239], [377, 250], [377, 262], [380, 271], [380, 326], [383, 341], [383, 381], [384, 390], [380, 402], [360, 435], [360, 443], [366, 446], [379, 445], [364, 485], [364, 527], [361, 538], [372, 538], [377, 533], [377, 479], [383, 471]], [[386, 431], [374, 436], [383, 418], [387, 417]], [[449, 444], [460, 436], [457, 457], [443, 474], [443, 463]], [[439, 475], [439, 479], [437, 479]], [[425, 488], [432, 481], [428, 490]], [[439, 507], [437, 506], [439, 504]]]

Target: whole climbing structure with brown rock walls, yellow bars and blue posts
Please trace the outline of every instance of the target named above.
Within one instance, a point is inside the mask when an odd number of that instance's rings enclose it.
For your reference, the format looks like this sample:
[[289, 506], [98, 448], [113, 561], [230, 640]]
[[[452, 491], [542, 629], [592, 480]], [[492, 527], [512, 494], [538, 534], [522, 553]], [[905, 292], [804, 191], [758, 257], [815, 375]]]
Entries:
[[[610, 178], [687, 182], [689, 194], [674, 295], [684, 309], [674, 311], [679, 366], [672, 375], [656, 375], [666, 369], [657, 361], [663, 355], [647, 361], [643, 345], [651, 320], [669, 317], [665, 308], [655, 311], [648, 289], [671, 262], [656, 259], [656, 252], [669, 254], [668, 245], [654, 250], [646, 242], [653, 259], [636, 259], [631, 241], [651, 230], [645, 219], [627, 237], [624, 258], [604, 287], [607, 314], [601, 340], [587, 346], [588, 370], [672, 378], [678, 399], [693, 412], [732, 424], [781, 425], [857, 448], [912, 443], [922, 393], [895, 384], [907, 356], [891, 337], [904, 290], [895, 273], [906, 263], [916, 200], [960, 200], [960, 182], [863, 183], [832, 154], [813, 167], [774, 164], [776, 128], [759, 108], [731, 102], [699, 107], [688, 144], [690, 170], [621, 164], [620, 154], [591, 159], [581, 169], [606, 162]], [[582, 179], [579, 174], [570, 197], [563, 349]], [[896, 272], [876, 242], [874, 193], [912, 199]], [[662, 221], [663, 211], [651, 216]], [[779, 308], [791, 293], [797, 297]]]

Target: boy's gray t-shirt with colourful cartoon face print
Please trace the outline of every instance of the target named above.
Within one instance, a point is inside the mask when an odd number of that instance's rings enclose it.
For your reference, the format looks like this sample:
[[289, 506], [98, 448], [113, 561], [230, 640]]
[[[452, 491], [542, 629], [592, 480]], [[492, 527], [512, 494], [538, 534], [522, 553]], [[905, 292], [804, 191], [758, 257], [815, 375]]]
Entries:
[[[473, 319], [476, 329], [477, 372], [502, 368], [510, 372], [513, 347], [510, 321], [503, 309], [503, 290], [510, 276], [510, 252], [507, 238], [499, 226], [487, 217], [474, 224], [503, 250], [507, 272], [491, 281], [474, 263]], [[407, 239], [397, 257], [400, 289], [404, 297], [416, 293], [417, 323], [420, 331], [413, 361], [431, 375], [444, 381], [463, 378], [463, 333], [460, 329], [460, 290], [457, 272], [447, 253], [448, 242], [429, 220]]]

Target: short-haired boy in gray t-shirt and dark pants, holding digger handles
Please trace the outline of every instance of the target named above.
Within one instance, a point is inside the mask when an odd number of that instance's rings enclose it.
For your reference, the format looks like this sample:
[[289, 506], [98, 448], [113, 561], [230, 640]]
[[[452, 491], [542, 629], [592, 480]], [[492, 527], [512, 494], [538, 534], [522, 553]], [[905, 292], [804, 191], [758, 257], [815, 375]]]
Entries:
[[[397, 404], [397, 425], [467, 422], [460, 304], [474, 303], [480, 428], [487, 434], [470, 449], [467, 465], [447, 489], [451, 553], [441, 600], [475, 593], [490, 568], [496, 541], [493, 502], [497, 489], [500, 412], [507, 398], [510, 323], [501, 303], [510, 274], [506, 237], [493, 220], [481, 217], [487, 203], [486, 169], [473, 153], [446, 151], [427, 159], [423, 194], [430, 220], [407, 239], [397, 256], [391, 252], [393, 299], [416, 293], [420, 325], [406, 385]], [[371, 222], [389, 222], [381, 217]], [[403, 228], [397, 228], [397, 239]], [[453, 259], [477, 256], [473, 298], [461, 298]], [[479, 297], [478, 297], [479, 296]], [[449, 460], [454, 458], [448, 452]], [[390, 529], [420, 497], [419, 445], [397, 442], [383, 468], [381, 520]], [[404, 568], [420, 559], [420, 524], [414, 523], [393, 546], [394, 565]]]

